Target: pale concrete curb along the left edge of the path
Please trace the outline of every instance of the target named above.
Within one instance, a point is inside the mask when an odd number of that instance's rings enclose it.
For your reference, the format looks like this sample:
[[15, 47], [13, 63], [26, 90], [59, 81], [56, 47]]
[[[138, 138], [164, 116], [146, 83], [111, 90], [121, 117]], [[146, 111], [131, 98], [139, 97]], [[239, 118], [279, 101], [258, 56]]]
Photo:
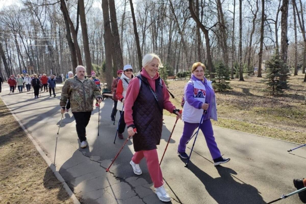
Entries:
[[62, 183], [63, 187], [65, 188], [66, 192], [70, 196], [70, 198], [73, 200], [74, 204], [81, 204], [80, 201], [76, 198], [76, 196], [73, 194], [61, 174], [56, 170], [54, 164], [52, 164], [51, 160], [47, 157], [47, 155], [43, 152], [43, 150], [39, 147], [38, 143], [35, 141], [35, 139], [32, 137], [32, 135], [28, 132], [28, 130], [24, 127], [24, 125], [21, 123], [21, 121], [16, 117], [16, 115], [12, 112], [12, 110], [7, 106], [6, 102], [2, 100], [3, 103], [6, 105], [6, 107], [9, 109], [15, 120], [19, 123], [21, 128], [24, 130], [24, 132], [28, 135], [28, 138], [31, 139], [32, 143], [36, 147], [36, 150], [39, 152], [39, 154], [43, 157], [43, 159], [46, 161], [48, 167], [53, 171], [56, 178]]

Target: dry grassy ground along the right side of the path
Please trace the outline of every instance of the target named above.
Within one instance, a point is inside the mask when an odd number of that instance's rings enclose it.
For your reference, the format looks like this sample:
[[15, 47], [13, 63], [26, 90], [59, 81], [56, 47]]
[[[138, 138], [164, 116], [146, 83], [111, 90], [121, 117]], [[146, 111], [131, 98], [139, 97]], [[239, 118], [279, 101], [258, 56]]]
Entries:
[[[291, 76], [290, 88], [282, 95], [267, 95], [262, 78], [245, 76], [244, 82], [230, 81], [231, 91], [217, 92], [218, 122], [214, 125], [269, 136], [291, 142], [306, 143], [306, 83], [304, 74]], [[171, 101], [181, 107], [183, 89], [188, 80], [168, 81]], [[165, 114], [169, 115], [165, 112]]]

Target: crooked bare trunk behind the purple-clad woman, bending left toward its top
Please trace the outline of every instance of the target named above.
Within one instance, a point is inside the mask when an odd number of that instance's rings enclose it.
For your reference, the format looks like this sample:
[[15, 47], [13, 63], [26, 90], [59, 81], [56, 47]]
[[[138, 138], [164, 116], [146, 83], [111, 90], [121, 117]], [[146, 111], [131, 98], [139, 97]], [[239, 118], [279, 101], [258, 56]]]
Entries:
[[208, 30], [207, 28], [200, 22], [200, 20], [196, 17], [196, 14], [193, 11], [193, 5], [192, 5], [192, 0], [189, 1], [189, 11], [191, 14], [191, 17], [193, 20], [196, 22], [197, 26], [199, 26], [204, 33], [205, 36], [205, 42], [206, 42], [206, 52], [207, 52], [207, 66], [209, 69], [209, 76], [211, 79], [214, 78], [214, 74], [212, 73], [214, 68], [211, 60], [211, 50], [210, 50], [210, 43], [209, 43], [209, 35], [208, 35]]

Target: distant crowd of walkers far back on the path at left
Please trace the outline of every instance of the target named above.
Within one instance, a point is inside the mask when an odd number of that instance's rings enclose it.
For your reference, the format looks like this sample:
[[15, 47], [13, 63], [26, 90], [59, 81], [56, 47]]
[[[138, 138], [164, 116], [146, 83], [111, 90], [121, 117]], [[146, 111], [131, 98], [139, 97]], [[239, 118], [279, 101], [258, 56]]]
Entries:
[[[31, 76], [29, 74], [26, 74], [25, 77], [23, 74], [21, 75], [18, 74], [17, 77], [15, 77], [15, 75], [11, 75], [9, 76], [7, 83], [9, 84], [10, 88], [9, 94], [13, 94], [17, 87], [19, 93], [22, 93], [24, 88], [26, 88], [27, 91], [31, 91], [31, 87], [33, 87], [35, 98], [39, 97], [39, 89], [43, 92], [49, 91], [50, 97], [51, 97], [51, 91], [53, 92], [53, 96], [54, 97], [56, 96], [55, 94], [56, 79], [55, 76], [52, 74], [49, 77], [47, 77], [46, 74], [43, 74], [42, 76], [40, 74], [38, 76], [36, 74], [33, 74]], [[1, 92], [1, 86], [0, 86], [0, 92]]]

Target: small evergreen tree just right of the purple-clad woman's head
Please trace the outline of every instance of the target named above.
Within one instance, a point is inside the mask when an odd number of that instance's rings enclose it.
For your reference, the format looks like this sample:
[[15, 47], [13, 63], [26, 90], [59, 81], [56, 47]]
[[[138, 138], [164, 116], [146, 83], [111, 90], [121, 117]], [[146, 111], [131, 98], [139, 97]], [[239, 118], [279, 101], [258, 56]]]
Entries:
[[216, 91], [227, 91], [232, 89], [230, 87], [230, 82], [226, 81], [226, 69], [223, 62], [219, 62], [215, 66], [215, 78], [211, 79], [212, 81], [215, 81], [213, 83], [213, 87]]

